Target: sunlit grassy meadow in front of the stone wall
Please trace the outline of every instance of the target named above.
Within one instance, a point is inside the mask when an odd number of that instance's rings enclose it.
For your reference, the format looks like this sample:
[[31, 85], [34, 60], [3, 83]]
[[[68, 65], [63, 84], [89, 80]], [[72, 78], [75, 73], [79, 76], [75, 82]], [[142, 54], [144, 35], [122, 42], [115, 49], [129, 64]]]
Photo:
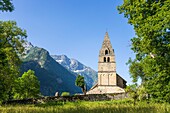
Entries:
[[0, 113], [170, 113], [169, 104], [132, 101], [48, 102], [32, 105], [3, 105]]

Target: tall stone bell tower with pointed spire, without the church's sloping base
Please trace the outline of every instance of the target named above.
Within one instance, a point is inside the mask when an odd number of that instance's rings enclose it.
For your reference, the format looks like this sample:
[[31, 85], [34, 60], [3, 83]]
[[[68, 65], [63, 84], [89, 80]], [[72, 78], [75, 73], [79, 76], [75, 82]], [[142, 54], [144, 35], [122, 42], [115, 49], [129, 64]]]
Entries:
[[98, 86], [117, 85], [115, 54], [106, 32], [98, 62]]

